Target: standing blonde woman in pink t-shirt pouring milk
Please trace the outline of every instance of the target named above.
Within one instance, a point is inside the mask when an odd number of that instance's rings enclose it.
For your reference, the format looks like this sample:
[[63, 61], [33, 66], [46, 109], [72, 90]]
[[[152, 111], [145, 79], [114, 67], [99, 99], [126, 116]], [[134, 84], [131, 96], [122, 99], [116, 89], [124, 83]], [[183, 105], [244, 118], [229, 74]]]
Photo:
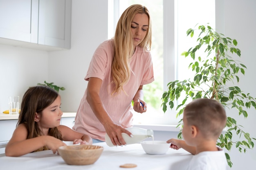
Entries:
[[107, 133], [114, 145], [126, 145], [121, 133], [132, 135], [124, 129], [132, 126], [132, 109], [147, 110], [143, 85], [154, 81], [150, 47], [148, 9], [134, 4], [121, 15], [114, 38], [92, 56], [74, 130], [91, 136], [93, 143], [105, 141]]

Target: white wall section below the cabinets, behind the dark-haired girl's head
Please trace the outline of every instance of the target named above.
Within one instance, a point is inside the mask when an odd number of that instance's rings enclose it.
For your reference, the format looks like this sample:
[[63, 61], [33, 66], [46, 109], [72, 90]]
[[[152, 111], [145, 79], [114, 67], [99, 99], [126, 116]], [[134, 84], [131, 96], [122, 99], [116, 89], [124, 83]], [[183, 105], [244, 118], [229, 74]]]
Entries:
[[0, 45], [0, 112], [9, 109], [8, 96], [22, 97], [28, 87], [47, 79], [46, 51]]

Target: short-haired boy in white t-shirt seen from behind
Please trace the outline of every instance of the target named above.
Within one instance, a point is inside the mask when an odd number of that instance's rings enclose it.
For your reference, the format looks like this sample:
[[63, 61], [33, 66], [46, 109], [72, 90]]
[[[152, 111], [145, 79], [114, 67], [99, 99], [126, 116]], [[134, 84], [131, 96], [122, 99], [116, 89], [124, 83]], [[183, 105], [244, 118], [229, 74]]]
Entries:
[[194, 154], [188, 170], [225, 170], [225, 152], [216, 146], [227, 121], [224, 107], [216, 100], [199, 98], [186, 105], [183, 113], [184, 140], [169, 139], [173, 149]]

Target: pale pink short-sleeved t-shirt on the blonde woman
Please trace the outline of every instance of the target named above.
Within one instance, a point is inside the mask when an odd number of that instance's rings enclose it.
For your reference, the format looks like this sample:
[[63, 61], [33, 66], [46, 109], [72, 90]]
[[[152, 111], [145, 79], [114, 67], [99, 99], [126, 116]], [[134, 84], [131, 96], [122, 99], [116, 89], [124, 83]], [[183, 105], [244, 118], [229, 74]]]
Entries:
[[[123, 86], [123, 91], [118, 95], [111, 95], [114, 85], [111, 75], [111, 63], [113, 59], [114, 41], [106, 40], [102, 42], [92, 56], [85, 80], [90, 77], [97, 77], [102, 80], [99, 96], [111, 119], [124, 128], [132, 126], [132, 99], [140, 85], [146, 85], [154, 81], [153, 63], [150, 52], [144, 51], [137, 46], [135, 53], [130, 59], [129, 82]], [[90, 105], [86, 100], [86, 93], [83, 95], [81, 103], [76, 113], [73, 129], [83, 134], [88, 134], [93, 139], [105, 141], [106, 130], [92, 112]]]

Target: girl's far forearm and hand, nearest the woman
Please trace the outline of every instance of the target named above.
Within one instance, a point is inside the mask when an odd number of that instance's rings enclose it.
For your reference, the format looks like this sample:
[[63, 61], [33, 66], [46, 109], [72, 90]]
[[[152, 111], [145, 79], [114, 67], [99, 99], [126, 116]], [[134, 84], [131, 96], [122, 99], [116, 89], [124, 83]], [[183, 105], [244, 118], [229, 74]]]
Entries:
[[64, 125], [59, 125], [58, 130], [61, 131], [63, 141], [73, 141], [73, 144], [92, 145], [92, 138], [86, 134], [76, 132]]

